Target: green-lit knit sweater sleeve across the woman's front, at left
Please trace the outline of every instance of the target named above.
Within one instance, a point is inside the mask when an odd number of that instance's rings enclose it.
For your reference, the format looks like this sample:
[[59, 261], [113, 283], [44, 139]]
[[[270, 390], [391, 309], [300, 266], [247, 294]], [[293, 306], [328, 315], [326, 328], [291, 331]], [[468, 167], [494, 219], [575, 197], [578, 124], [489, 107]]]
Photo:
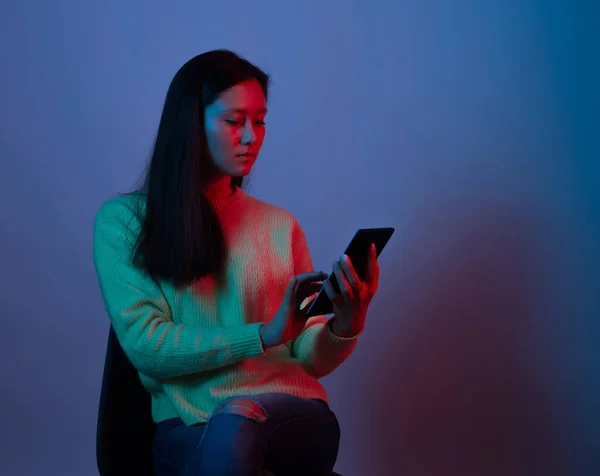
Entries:
[[169, 379], [262, 354], [260, 323], [201, 328], [175, 324], [162, 289], [133, 264], [139, 220], [121, 199], [94, 222], [94, 264], [102, 298], [123, 351], [142, 374]]

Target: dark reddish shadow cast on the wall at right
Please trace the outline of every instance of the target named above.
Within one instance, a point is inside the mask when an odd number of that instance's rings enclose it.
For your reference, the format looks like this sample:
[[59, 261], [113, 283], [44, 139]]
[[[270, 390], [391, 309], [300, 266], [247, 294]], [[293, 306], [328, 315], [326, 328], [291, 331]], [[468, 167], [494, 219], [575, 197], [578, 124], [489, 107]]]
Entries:
[[468, 208], [426, 214], [414, 227], [421, 236], [406, 236], [389, 307], [402, 328], [368, 364], [378, 371], [358, 404], [370, 409], [360, 466], [382, 476], [567, 474], [531, 359], [542, 351], [539, 229], [522, 210]]

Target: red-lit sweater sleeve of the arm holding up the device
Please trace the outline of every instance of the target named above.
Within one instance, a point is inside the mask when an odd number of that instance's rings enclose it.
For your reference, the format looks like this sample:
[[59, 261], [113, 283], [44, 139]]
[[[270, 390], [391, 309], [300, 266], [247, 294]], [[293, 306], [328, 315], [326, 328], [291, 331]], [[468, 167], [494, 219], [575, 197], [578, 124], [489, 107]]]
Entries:
[[[294, 274], [313, 270], [312, 257], [304, 230], [295, 221], [292, 237]], [[324, 377], [339, 367], [352, 353], [358, 342], [358, 335], [351, 338], [336, 336], [328, 325], [326, 316], [308, 319], [298, 337], [289, 343], [292, 356], [306, 362], [316, 378]]]

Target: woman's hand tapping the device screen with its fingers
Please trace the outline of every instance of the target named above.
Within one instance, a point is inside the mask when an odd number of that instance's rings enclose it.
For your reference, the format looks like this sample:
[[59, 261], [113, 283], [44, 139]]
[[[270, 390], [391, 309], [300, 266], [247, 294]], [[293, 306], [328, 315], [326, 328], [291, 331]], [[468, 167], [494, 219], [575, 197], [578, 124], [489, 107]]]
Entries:
[[260, 328], [260, 338], [265, 348], [281, 345], [302, 332], [308, 305], [303, 309], [300, 309], [300, 305], [323, 287], [322, 281], [327, 276], [321, 271], [311, 271], [292, 277], [275, 316]]

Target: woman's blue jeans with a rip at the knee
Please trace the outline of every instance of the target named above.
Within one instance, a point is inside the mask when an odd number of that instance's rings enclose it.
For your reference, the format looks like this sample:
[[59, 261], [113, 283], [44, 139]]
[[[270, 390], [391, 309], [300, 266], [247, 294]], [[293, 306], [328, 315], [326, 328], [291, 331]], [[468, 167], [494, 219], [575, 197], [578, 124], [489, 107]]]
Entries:
[[157, 476], [330, 476], [340, 427], [322, 400], [280, 393], [230, 398], [207, 423], [173, 418], [154, 437]]

